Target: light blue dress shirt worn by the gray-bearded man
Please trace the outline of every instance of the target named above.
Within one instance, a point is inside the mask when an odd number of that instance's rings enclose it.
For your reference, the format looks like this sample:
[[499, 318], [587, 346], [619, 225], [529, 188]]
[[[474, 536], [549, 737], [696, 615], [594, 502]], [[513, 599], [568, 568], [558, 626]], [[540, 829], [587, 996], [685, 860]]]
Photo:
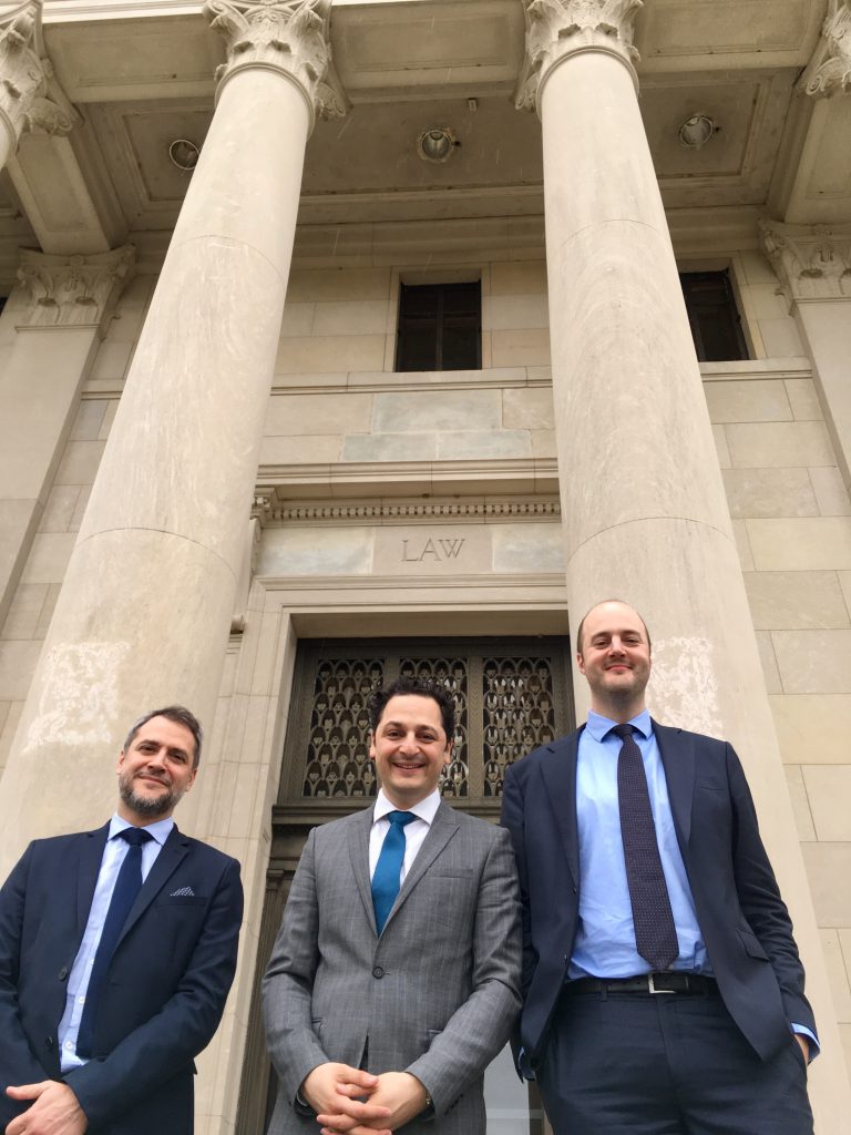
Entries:
[[[100, 944], [101, 932], [103, 931], [103, 923], [109, 910], [112, 891], [115, 890], [124, 857], [129, 850], [129, 844], [118, 838], [118, 832], [132, 826], [133, 824], [128, 824], [126, 819], [121, 819], [118, 815], [112, 816], [109, 822], [109, 835], [107, 836], [107, 844], [103, 848], [103, 858], [101, 859], [101, 869], [98, 873], [98, 883], [94, 888], [92, 909], [89, 911], [89, 922], [83, 934], [83, 941], [79, 943], [77, 957], [74, 959], [74, 965], [68, 976], [65, 1012], [62, 1014], [62, 1019], [59, 1022], [60, 1065], [64, 1073], [69, 1071], [71, 1068], [79, 1068], [86, 1062], [83, 1057], [77, 1056], [79, 1022], [83, 1016], [89, 978], [92, 973], [94, 956]], [[148, 878], [148, 873], [174, 826], [175, 822], [171, 818], [158, 819], [155, 824], [146, 825], [145, 831], [150, 832], [153, 839], [142, 844], [143, 883]]]

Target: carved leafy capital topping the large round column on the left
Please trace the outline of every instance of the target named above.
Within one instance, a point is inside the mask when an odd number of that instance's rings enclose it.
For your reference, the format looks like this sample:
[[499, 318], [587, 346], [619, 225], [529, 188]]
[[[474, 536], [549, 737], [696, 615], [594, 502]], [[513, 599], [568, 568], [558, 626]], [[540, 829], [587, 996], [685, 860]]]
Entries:
[[208, 0], [204, 14], [227, 47], [219, 89], [243, 68], [266, 67], [294, 78], [322, 118], [348, 111], [331, 60], [331, 0]]

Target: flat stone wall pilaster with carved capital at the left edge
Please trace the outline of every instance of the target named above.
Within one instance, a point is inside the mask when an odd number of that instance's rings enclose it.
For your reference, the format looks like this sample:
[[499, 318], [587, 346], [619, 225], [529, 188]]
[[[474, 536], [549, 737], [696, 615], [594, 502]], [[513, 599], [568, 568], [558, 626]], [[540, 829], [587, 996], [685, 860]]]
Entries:
[[0, 377], [0, 624], [39, 527], [99, 337], [134, 250], [22, 253], [6, 305], [15, 342]]

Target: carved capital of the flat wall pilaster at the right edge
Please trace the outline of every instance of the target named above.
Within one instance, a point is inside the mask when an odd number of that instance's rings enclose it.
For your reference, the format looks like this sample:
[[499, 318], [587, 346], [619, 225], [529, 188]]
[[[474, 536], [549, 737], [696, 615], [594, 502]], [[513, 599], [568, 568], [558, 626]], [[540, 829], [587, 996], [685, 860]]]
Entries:
[[851, 299], [851, 227], [761, 220], [762, 249], [790, 300]]

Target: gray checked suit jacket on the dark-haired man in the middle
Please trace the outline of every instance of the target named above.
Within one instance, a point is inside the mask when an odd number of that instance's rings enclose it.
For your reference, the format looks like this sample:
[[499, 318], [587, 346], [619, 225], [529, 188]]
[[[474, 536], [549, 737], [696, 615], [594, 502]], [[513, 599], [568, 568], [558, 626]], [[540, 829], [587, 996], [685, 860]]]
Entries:
[[[482, 1076], [520, 1009], [520, 903], [507, 832], [441, 804], [379, 938], [372, 808], [315, 827], [263, 981], [280, 1082], [270, 1135], [315, 1135], [295, 1103], [328, 1060], [410, 1071], [435, 1118], [414, 1135], [485, 1132]], [[366, 1058], [364, 1059], [364, 1053]]]

